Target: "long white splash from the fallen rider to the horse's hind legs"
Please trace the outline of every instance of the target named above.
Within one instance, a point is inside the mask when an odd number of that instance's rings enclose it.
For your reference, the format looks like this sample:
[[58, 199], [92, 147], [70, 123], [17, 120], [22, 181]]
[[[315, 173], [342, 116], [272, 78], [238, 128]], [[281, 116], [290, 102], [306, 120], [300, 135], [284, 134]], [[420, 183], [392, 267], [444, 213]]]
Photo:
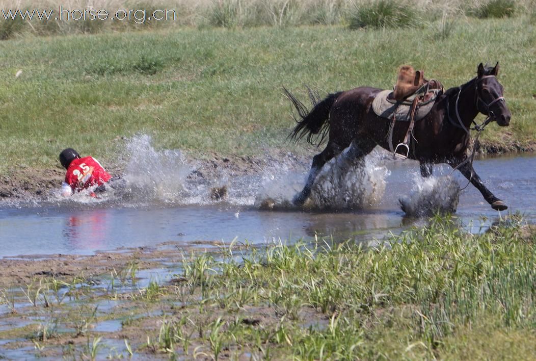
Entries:
[[[318, 175], [306, 207], [358, 209], [379, 203], [389, 171], [377, 166], [378, 157], [348, 161], [339, 157]], [[127, 207], [154, 203], [205, 205], [223, 202], [259, 209], [295, 209], [293, 197], [303, 187], [307, 164], [295, 157], [268, 160], [259, 173], [236, 176], [233, 168], [206, 172], [202, 162], [188, 161], [180, 150], [157, 150], [148, 135], [125, 144], [124, 172], [107, 183], [107, 191], [91, 197], [93, 189], [63, 197], [59, 189], [49, 200], [61, 203], [114, 203]], [[207, 165], [205, 165], [206, 167]], [[203, 173], [203, 174], [202, 174]], [[116, 175], [116, 174], [114, 174]]]

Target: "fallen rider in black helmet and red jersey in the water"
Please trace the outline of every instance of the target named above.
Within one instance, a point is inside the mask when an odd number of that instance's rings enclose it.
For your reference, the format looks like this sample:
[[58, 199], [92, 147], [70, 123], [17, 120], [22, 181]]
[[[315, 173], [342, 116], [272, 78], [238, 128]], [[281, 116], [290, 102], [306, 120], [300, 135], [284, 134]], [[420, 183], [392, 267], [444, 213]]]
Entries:
[[81, 158], [80, 154], [72, 148], [64, 149], [59, 153], [59, 163], [67, 170], [65, 181], [62, 183], [62, 195], [70, 196], [75, 191], [81, 191], [96, 186], [90, 193], [96, 197], [96, 193], [106, 190], [105, 183], [111, 179], [111, 175], [93, 157]]

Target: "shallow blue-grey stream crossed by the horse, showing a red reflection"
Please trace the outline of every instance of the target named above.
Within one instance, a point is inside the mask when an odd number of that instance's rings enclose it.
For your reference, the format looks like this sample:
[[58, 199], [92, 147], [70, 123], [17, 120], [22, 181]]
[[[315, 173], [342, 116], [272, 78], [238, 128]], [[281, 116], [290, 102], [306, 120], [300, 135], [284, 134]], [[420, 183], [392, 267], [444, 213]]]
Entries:
[[[160, 161], [183, 162], [180, 153], [168, 153], [167, 157]], [[165, 187], [168, 180], [158, 180], [163, 177], [161, 175], [156, 179], [148, 174], [139, 175], [144, 187], [126, 179], [131, 182], [129, 187], [145, 190], [140, 192], [143, 194], [140, 198], [116, 194], [105, 201], [84, 200], [80, 196], [68, 201], [53, 198], [48, 202], [18, 204], [17, 207], [0, 203], [0, 256], [93, 254], [169, 241], [204, 247], [210, 241], [229, 244], [235, 238], [252, 244], [278, 242], [279, 239], [307, 240], [315, 236], [374, 242], [389, 231], [396, 233], [412, 224], [422, 223], [422, 220], [406, 217], [398, 200], [430, 189], [423, 186], [416, 162], [377, 160], [379, 158], [367, 160], [364, 173], [351, 169], [358, 184], [350, 184], [345, 189], [343, 183], [333, 181], [334, 173], [321, 176], [321, 179], [330, 179], [330, 183], [326, 186], [323, 181], [323, 185], [316, 186], [317, 190], [332, 192], [332, 195], [312, 196], [316, 207], [309, 211], [289, 206], [295, 191], [303, 185], [306, 170], [305, 166], [296, 170], [288, 164], [274, 166], [255, 176], [229, 176], [225, 183], [228, 197], [219, 202], [211, 201], [207, 196], [215, 183], [190, 180], [189, 184], [188, 173], [181, 168], [173, 177], [173, 181], [182, 180], [181, 184], [171, 188]], [[191, 165], [184, 164], [184, 167], [191, 169]], [[534, 154], [477, 160], [474, 167], [496, 196], [509, 205], [509, 211], [519, 211], [529, 222], [536, 221]], [[151, 166], [145, 165], [147, 168]], [[434, 175], [448, 175], [450, 169], [435, 166]], [[460, 174], [455, 173], [453, 178], [461, 186], [466, 183]], [[347, 178], [343, 176], [342, 179], [348, 183]], [[375, 186], [371, 186], [373, 183]], [[437, 184], [441, 188], [441, 183]], [[337, 189], [349, 194], [350, 198], [352, 192], [367, 194], [357, 202], [362, 209], [341, 211], [333, 207], [336, 196], [333, 191]], [[438, 196], [441, 197], [444, 196]], [[271, 207], [270, 211], [259, 209], [265, 200], [286, 207]], [[345, 200], [348, 201], [348, 197], [341, 202]], [[325, 202], [325, 208], [321, 207], [322, 202]], [[472, 224], [469, 228], [474, 232], [499, 216], [472, 185], [461, 191], [456, 214], [464, 224]]]

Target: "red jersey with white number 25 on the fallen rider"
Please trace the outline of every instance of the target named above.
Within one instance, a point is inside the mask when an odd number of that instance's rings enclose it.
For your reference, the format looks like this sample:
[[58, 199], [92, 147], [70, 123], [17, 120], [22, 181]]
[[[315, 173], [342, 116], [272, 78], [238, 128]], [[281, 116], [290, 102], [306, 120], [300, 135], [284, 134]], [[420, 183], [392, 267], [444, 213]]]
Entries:
[[71, 161], [65, 183], [71, 186], [72, 190], [82, 190], [91, 186], [101, 186], [109, 181], [111, 175], [105, 171], [93, 157], [84, 157]]

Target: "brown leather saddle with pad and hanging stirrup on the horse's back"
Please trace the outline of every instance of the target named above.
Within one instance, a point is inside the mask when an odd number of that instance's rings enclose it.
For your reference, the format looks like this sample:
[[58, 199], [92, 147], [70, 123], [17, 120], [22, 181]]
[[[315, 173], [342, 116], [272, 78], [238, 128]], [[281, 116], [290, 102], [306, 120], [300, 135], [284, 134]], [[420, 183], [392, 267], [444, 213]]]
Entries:
[[[443, 93], [443, 85], [434, 79], [427, 80], [422, 70], [415, 71], [410, 65], [403, 65], [398, 71], [397, 83], [393, 91], [384, 90], [376, 95], [372, 108], [376, 115], [390, 119], [389, 148], [394, 156], [406, 159], [410, 153], [410, 134], [416, 120], [425, 117], [434, 106], [434, 102]], [[392, 146], [394, 122], [410, 122], [404, 141], [396, 148]], [[405, 149], [399, 153], [398, 149]]]

